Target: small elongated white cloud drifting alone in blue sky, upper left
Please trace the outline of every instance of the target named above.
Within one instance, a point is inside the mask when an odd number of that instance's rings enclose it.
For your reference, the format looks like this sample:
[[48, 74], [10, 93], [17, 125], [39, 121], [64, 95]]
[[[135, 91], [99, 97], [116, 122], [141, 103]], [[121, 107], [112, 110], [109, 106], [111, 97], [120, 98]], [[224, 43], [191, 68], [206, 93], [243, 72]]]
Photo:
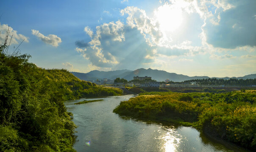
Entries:
[[61, 38], [59, 38], [57, 35], [50, 34], [48, 36], [45, 36], [41, 33], [39, 33], [38, 30], [31, 30], [32, 34], [38, 37], [40, 40], [42, 40], [46, 44], [50, 44], [52, 46], [57, 47], [58, 43], [61, 43]]

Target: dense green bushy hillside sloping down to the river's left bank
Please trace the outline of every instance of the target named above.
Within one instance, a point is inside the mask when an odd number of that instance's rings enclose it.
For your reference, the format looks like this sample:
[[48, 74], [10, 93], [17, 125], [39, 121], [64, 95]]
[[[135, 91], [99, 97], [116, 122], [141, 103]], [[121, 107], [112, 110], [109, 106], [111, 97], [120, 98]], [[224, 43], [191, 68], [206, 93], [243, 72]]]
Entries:
[[0, 46], [0, 151], [73, 152], [75, 124], [65, 100], [121, 95], [66, 70], [45, 70]]

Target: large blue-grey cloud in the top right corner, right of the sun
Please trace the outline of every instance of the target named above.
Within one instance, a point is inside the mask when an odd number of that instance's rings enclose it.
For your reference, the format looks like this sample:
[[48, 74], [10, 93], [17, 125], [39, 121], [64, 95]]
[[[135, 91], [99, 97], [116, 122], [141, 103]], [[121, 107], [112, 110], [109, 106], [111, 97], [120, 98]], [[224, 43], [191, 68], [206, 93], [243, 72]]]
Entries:
[[[238, 46], [256, 46], [255, 0], [225, 0], [208, 12], [202, 27], [206, 42], [214, 47], [234, 49]], [[224, 3], [225, 2], [225, 3]]]

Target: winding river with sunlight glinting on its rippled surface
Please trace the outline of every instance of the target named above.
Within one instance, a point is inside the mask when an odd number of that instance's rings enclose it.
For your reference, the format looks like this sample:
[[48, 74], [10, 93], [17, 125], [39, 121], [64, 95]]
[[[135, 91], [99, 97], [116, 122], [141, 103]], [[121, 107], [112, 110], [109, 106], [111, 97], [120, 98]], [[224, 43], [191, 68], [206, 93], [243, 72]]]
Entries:
[[73, 122], [78, 125], [74, 149], [77, 152], [233, 152], [209, 141], [192, 127], [143, 122], [112, 112], [120, 101], [131, 97], [100, 98], [103, 101], [80, 105], [74, 103], [84, 98], [66, 101], [67, 110], [74, 114]]

